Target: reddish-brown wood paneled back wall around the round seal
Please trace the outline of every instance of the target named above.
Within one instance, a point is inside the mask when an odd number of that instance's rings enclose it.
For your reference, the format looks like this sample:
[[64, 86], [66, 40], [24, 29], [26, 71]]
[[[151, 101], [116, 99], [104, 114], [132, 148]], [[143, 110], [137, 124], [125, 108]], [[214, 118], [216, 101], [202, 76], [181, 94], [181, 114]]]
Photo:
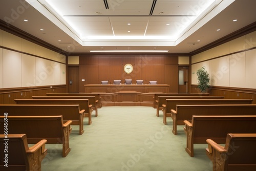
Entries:
[[[131, 63], [134, 70], [126, 74], [123, 67]], [[84, 84], [100, 84], [101, 80], [137, 79], [148, 83], [170, 84], [170, 92], [178, 92], [178, 55], [81, 55], [79, 56], [79, 91], [84, 92]], [[85, 81], [81, 81], [84, 79]]]

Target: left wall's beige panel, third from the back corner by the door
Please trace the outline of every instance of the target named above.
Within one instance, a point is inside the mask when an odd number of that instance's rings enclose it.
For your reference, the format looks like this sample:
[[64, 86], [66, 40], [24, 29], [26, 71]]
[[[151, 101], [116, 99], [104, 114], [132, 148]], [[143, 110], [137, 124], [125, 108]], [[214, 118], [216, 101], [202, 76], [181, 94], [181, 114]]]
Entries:
[[46, 59], [36, 58], [35, 60], [35, 84], [36, 86], [46, 86]]

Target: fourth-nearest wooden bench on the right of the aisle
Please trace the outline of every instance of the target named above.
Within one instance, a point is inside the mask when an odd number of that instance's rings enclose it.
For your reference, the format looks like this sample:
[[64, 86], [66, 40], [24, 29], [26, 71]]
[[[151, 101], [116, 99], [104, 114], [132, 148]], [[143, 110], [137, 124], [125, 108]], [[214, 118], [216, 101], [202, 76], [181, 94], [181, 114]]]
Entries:
[[163, 123], [167, 124], [166, 117], [171, 117], [172, 109], [177, 104], [251, 104], [253, 99], [166, 99], [163, 104]]

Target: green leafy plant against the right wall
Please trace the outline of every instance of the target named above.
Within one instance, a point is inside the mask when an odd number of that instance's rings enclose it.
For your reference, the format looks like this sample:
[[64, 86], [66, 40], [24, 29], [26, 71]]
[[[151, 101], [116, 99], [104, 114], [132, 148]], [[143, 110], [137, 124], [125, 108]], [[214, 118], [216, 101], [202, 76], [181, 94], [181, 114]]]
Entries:
[[205, 70], [205, 67], [200, 68], [197, 70], [197, 80], [198, 80], [198, 88], [202, 93], [206, 93], [207, 89], [210, 87], [210, 76], [208, 72]]

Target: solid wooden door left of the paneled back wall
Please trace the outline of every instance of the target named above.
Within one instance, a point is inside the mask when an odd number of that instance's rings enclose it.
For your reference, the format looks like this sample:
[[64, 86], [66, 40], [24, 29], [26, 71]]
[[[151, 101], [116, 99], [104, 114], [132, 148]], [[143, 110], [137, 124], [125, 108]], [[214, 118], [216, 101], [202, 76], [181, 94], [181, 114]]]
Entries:
[[79, 67], [69, 66], [69, 93], [79, 93]]

